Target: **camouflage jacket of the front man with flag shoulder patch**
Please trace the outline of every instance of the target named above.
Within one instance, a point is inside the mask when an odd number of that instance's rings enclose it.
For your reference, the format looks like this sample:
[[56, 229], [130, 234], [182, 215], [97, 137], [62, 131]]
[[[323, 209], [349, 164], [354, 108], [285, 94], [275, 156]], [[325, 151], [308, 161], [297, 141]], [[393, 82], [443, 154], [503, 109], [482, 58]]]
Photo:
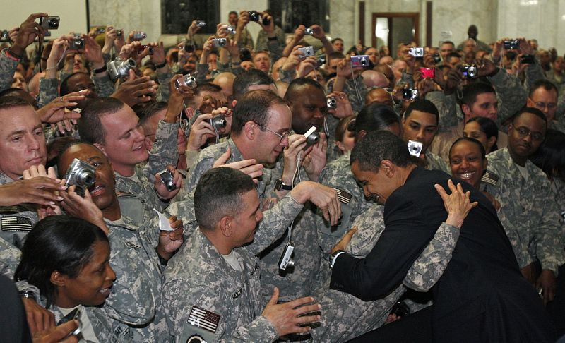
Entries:
[[243, 265], [242, 271], [234, 270], [197, 229], [169, 261], [162, 297], [176, 342], [186, 342], [198, 332], [189, 320], [192, 306], [221, 316], [207, 342], [273, 342], [278, 337], [261, 316], [261, 270], [248, 247], [234, 248]]

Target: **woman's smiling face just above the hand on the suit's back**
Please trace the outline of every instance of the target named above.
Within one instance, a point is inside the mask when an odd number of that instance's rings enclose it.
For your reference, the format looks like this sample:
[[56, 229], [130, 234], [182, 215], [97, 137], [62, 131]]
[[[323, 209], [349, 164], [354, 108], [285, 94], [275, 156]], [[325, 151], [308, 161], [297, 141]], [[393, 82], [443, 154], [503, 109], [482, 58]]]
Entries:
[[453, 145], [449, 154], [451, 174], [479, 188], [482, 174], [487, 169], [487, 159], [482, 157], [480, 147], [468, 140]]

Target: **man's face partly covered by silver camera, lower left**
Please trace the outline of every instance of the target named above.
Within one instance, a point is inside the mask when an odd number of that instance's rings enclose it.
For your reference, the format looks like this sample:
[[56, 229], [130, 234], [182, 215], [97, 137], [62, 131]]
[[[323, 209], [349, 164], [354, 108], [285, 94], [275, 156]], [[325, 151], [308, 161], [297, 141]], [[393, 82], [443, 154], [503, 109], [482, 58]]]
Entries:
[[76, 158], [92, 164], [96, 169], [94, 186], [89, 189], [95, 205], [100, 210], [115, 205], [117, 197], [114, 188], [114, 170], [106, 156], [93, 145], [73, 145], [59, 157], [59, 174], [64, 174]]

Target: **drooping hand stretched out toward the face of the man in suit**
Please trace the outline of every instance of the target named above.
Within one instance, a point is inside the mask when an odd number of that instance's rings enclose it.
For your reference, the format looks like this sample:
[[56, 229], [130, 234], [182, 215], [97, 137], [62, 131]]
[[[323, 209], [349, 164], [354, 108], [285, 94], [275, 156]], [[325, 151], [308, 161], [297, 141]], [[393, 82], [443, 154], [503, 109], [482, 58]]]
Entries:
[[335, 189], [313, 181], [302, 181], [292, 188], [289, 195], [299, 203], [310, 201], [316, 205], [322, 211], [323, 218], [330, 222], [332, 227], [338, 224], [341, 205]]

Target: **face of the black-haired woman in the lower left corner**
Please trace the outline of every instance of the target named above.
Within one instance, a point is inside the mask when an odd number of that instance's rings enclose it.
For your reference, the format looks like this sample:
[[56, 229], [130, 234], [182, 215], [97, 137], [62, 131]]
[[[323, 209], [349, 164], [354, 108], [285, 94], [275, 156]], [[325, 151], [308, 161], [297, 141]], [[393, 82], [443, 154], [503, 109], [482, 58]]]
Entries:
[[62, 308], [80, 304], [99, 306], [110, 294], [116, 274], [109, 265], [110, 247], [106, 241], [95, 241], [93, 255], [76, 277], [61, 275], [55, 303]]

